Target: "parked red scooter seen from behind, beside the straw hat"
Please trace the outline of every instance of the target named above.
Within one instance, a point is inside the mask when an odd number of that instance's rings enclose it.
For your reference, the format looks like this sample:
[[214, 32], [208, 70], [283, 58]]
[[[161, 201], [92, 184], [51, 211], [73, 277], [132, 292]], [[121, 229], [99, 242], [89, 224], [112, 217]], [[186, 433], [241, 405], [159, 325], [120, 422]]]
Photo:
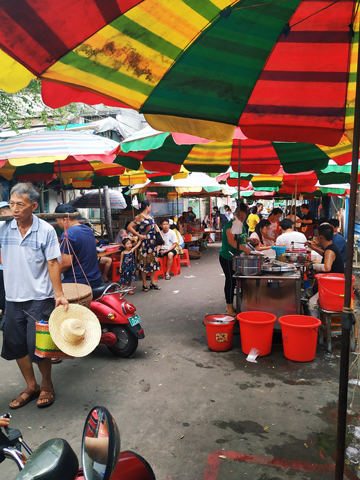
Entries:
[[145, 337], [136, 308], [124, 299], [134, 288], [105, 283], [92, 289], [93, 299], [89, 308], [101, 324], [100, 344], [106, 345], [116, 357], [132, 355], [138, 347], [138, 340]]

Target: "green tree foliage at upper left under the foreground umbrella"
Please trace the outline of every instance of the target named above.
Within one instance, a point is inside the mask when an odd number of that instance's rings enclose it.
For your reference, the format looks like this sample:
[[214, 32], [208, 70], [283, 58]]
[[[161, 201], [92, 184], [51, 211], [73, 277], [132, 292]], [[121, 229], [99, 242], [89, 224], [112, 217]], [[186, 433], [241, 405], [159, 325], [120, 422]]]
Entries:
[[34, 120], [48, 128], [66, 125], [82, 111], [81, 103], [71, 103], [57, 109], [47, 107], [42, 101], [39, 80], [31, 80], [26, 88], [16, 94], [0, 90], [0, 126], [15, 132], [19, 132], [19, 128], [30, 128]]

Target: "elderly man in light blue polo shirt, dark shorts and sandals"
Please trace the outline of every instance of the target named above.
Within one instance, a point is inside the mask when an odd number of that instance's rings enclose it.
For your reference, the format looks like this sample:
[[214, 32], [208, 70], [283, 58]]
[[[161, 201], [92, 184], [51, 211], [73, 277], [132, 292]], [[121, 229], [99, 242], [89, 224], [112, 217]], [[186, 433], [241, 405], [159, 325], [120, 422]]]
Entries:
[[[6, 290], [5, 322], [1, 357], [16, 359], [27, 388], [9, 407], [18, 409], [37, 400], [38, 407], [54, 401], [51, 359], [35, 355], [35, 322], [48, 320], [54, 307], [69, 302], [62, 291], [60, 248], [53, 227], [33, 215], [39, 193], [32, 184], [17, 184], [10, 192], [14, 220], [0, 222], [0, 247]], [[33, 369], [42, 375], [37, 384]]]

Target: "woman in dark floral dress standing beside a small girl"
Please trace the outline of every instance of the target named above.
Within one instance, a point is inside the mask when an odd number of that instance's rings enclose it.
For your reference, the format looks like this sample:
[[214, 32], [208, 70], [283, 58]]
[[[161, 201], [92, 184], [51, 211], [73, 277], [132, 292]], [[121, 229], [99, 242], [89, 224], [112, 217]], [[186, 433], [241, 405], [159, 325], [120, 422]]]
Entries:
[[151, 205], [147, 200], [139, 204], [140, 213], [127, 226], [127, 231], [136, 235], [141, 240], [138, 249], [136, 267], [141, 272], [143, 279], [143, 291], [148, 292], [146, 285], [146, 275], [150, 273], [150, 289], [161, 290], [155, 283], [155, 272], [160, 269], [159, 259], [156, 249], [155, 231], [160, 231], [156, 225], [154, 217], [151, 215]]

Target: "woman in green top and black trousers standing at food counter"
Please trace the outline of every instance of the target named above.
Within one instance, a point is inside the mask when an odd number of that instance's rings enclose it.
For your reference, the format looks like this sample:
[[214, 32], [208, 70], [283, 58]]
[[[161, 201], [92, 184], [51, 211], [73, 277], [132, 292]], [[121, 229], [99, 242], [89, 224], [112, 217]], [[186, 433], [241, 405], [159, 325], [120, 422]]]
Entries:
[[[250, 254], [249, 247], [246, 247], [244, 244], [246, 243], [246, 231], [244, 226], [244, 221], [246, 219], [247, 213], [247, 206], [245, 204], [240, 204], [240, 206], [235, 211], [235, 217], [237, 217], [240, 222], [243, 224], [242, 234], [240, 236], [240, 251], [243, 251], [245, 254]], [[236, 310], [233, 305], [234, 301], [234, 290], [236, 281], [233, 278], [235, 274], [235, 270], [233, 269], [233, 257], [231, 256], [230, 252], [233, 255], [237, 254], [237, 239], [235, 235], [231, 233], [231, 227], [233, 226], [233, 220], [230, 220], [225, 226], [222, 231], [222, 248], [219, 252], [219, 262], [222, 266], [222, 269], [225, 274], [225, 299], [226, 299], [226, 314], [228, 315], [235, 315]]]

